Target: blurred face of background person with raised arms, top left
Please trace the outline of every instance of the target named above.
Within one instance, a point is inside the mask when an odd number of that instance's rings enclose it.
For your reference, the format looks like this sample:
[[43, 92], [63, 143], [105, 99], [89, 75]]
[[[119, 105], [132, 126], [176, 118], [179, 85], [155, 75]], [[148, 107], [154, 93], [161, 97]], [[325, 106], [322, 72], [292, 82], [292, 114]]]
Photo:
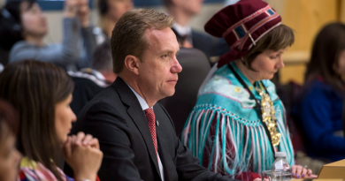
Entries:
[[20, 4], [21, 22], [24, 37], [26, 35], [42, 37], [47, 34], [48, 26], [40, 6], [35, 3], [28, 7], [27, 2]]

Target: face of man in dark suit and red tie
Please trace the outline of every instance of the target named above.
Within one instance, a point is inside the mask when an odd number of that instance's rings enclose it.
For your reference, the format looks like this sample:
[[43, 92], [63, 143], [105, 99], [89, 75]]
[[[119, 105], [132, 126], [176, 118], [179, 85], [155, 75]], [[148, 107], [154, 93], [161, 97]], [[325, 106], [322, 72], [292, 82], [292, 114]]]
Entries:
[[139, 63], [139, 82], [144, 96], [156, 100], [172, 96], [178, 73], [182, 71], [176, 54], [179, 43], [170, 27], [163, 30], [149, 28], [144, 37], [149, 42], [147, 49]]

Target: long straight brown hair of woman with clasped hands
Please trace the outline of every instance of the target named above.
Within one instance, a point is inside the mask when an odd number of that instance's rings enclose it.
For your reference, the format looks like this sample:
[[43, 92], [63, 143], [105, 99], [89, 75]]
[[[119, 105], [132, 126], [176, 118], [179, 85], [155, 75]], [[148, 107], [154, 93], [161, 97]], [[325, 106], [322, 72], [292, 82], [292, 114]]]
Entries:
[[[0, 74], [0, 98], [19, 112], [19, 151], [61, 180], [55, 105], [73, 92], [73, 80], [60, 67], [35, 60], [8, 64]], [[55, 164], [51, 162], [51, 159]]]

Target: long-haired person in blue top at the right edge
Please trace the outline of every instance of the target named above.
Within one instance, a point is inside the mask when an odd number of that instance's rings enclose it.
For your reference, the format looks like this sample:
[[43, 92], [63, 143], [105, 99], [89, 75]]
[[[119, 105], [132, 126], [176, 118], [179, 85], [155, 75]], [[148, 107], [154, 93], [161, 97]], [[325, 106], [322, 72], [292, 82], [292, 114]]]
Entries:
[[305, 83], [294, 108], [307, 154], [326, 162], [345, 159], [341, 121], [344, 75], [345, 25], [332, 23], [314, 41]]

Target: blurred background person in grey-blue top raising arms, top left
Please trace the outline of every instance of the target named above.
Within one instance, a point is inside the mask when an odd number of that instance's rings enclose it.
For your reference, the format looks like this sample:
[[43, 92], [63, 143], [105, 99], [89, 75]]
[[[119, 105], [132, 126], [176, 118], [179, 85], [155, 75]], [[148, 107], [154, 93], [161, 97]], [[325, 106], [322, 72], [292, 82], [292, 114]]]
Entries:
[[[2, 41], [12, 47], [9, 62], [35, 59], [61, 66], [65, 70], [90, 67], [96, 39], [88, 20], [88, 0], [66, 0], [63, 19], [62, 43], [45, 44], [48, 34], [47, 20], [35, 0], [8, 1], [0, 16], [2, 21], [10, 20], [12, 31], [0, 32], [9, 41]], [[2, 22], [0, 22], [2, 26]], [[14, 32], [13, 32], [14, 31]], [[80, 36], [83, 51], [80, 49]], [[14, 44], [14, 45], [13, 45]]]

